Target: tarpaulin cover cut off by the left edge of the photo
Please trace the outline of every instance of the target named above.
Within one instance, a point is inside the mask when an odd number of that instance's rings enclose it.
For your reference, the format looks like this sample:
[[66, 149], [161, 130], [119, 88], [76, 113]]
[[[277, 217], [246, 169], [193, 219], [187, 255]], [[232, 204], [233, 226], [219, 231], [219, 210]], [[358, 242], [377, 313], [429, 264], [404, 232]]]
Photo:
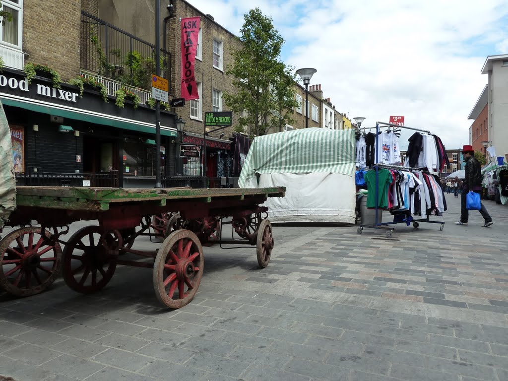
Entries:
[[11, 130], [0, 102], [0, 228], [16, 208], [16, 179], [12, 162]]

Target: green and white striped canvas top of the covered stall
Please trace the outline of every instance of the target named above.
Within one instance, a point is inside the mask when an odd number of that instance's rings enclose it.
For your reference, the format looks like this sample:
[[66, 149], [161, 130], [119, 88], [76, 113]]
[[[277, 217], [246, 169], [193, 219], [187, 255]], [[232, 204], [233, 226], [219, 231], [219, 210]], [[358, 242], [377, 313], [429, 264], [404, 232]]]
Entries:
[[238, 185], [256, 173], [329, 172], [353, 175], [355, 130], [309, 128], [255, 138], [238, 179]]

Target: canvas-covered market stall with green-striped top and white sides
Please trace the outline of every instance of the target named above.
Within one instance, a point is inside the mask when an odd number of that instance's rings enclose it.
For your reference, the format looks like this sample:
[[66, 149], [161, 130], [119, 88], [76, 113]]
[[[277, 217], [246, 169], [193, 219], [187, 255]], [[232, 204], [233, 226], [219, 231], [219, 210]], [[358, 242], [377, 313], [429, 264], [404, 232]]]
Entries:
[[269, 199], [271, 221], [355, 222], [355, 130], [320, 128], [280, 132], [253, 140], [238, 184], [287, 187]]

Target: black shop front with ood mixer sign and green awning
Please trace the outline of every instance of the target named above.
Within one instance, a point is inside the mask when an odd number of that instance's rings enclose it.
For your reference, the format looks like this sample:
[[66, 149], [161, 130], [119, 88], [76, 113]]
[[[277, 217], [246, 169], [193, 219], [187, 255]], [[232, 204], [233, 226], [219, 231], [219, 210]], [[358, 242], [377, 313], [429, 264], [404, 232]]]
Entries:
[[[155, 113], [104, 102], [96, 91], [4, 68], [0, 100], [13, 143], [18, 185], [153, 187]], [[161, 112], [161, 174], [175, 174], [175, 115]]]

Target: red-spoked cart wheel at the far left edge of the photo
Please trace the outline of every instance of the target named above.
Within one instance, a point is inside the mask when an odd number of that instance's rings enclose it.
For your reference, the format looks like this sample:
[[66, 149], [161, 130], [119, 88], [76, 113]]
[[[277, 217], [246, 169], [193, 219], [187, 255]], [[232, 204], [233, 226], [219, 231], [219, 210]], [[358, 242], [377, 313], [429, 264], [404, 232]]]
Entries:
[[62, 250], [38, 227], [12, 231], [0, 242], [0, 287], [12, 295], [30, 296], [49, 287], [60, 272]]

